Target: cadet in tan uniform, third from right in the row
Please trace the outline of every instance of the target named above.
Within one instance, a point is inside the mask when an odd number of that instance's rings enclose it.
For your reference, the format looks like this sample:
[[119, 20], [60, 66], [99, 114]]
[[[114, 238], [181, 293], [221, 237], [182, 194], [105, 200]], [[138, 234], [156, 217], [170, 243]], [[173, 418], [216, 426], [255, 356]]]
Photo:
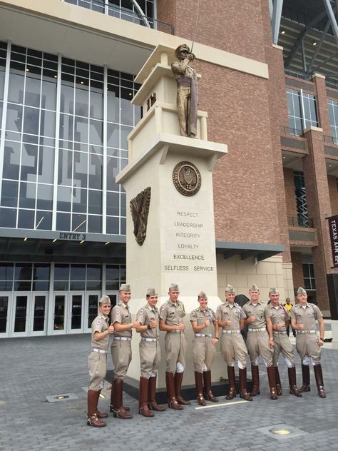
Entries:
[[267, 377], [270, 386], [270, 398], [277, 400], [275, 371], [272, 366], [274, 340], [272, 335], [272, 323], [270, 309], [262, 303], [260, 298], [260, 289], [253, 284], [249, 290], [250, 301], [244, 306], [243, 310], [247, 315], [247, 352], [251, 360], [252, 391], [251, 396], [260, 394], [260, 373], [258, 369], [258, 360], [262, 356], [267, 367]]

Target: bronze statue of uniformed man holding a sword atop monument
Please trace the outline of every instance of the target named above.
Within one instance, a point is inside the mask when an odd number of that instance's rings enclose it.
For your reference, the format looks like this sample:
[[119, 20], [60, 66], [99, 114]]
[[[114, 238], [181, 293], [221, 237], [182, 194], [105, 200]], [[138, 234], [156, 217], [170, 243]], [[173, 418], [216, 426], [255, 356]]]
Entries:
[[175, 50], [178, 63], [171, 64], [171, 70], [178, 86], [177, 108], [181, 136], [196, 138], [198, 112], [198, 83], [195, 69], [189, 66], [195, 55], [186, 44]]

